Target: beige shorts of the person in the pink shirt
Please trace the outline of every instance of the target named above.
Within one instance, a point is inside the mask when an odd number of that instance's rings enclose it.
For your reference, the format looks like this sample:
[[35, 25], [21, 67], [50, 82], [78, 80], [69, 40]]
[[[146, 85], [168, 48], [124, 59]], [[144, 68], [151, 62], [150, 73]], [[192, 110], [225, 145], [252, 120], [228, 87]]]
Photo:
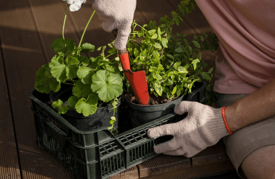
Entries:
[[[217, 94], [218, 107], [230, 105], [246, 94]], [[252, 117], [252, 116], [251, 116]], [[223, 138], [226, 152], [238, 174], [246, 178], [240, 164], [249, 153], [264, 145], [275, 144], [275, 116], [245, 126]]]

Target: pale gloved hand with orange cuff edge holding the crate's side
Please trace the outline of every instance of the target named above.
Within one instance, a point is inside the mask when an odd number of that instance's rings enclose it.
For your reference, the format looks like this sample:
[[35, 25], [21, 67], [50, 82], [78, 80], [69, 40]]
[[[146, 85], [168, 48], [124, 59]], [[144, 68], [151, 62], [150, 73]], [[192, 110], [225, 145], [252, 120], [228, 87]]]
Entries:
[[153, 127], [147, 132], [150, 138], [173, 135], [170, 141], [155, 145], [155, 153], [192, 157], [229, 134], [222, 117], [222, 108], [181, 101], [174, 112], [179, 115], [188, 112], [188, 115], [179, 122]]

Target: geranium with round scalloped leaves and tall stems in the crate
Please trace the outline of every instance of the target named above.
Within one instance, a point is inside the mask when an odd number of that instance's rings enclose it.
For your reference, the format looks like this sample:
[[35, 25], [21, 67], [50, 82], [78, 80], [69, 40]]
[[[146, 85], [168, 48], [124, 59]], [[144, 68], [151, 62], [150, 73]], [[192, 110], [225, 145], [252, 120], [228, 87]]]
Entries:
[[[69, 5], [68, 5], [69, 6]], [[66, 9], [66, 15], [68, 12]], [[91, 15], [86, 28], [91, 21], [95, 11]], [[119, 70], [115, 67], [119, 60], [110, 61], [105, 57], [104, 50], [106, 46], [99, 47], [101, 54], [98, 57], [90, 57], [82, 55], [82, 53], [93, 52], [95, 46], [90, 43], [82, 44], [82, 39], [86, 28], [82, 34], [78, 46], [73, 42], [73, 39], [64, 38], [55, 39], [51, 47], [56, 52], [56, 55], [51, 59], [51, 62], [43, 65], [38, 69], [35, 79], [35, 88], [42, 93], [50, 93], [50, 91], [58, 92], [61, 84], [72, 85], [72, 96], [68, 99], [68, 105], [58, 99], [52, 103], [58, 114], [65, 114], [68, 110], [76, 110], [84, 116], [92, 115], [97, 108], [101, 107], [103, 102], [113, 105], [114, 113], [117, 109], [118, 99], [122, 95], [122, 76]], [[112, 46], [109, 44], [109, 46]], [[114, 128], [114, 115], [109, 122]]]

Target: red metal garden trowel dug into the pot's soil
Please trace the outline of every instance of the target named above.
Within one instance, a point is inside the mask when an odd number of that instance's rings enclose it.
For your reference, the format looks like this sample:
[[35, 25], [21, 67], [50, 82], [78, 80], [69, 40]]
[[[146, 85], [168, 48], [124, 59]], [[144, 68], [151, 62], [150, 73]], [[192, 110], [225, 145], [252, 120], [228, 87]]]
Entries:
[[[113, 34], [117, 37], [117, 29], [114, 29]], [[129, 55], [126, 49], [118, 51], [123, 72], [128, 79], [130, 86], [135, 94], [140, 105], [147, 105], [149, 100], [148, 87], [145, 71], [132, 72], [130, 69]]]

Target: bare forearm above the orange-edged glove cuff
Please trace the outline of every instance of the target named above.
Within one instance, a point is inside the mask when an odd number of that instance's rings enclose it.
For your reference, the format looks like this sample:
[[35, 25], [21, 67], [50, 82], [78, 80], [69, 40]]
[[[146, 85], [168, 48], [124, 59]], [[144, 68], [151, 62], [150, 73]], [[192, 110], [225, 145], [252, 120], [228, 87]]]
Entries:
[[225, 118], [233, 132], [275, 115], [275, 79], [260, 90], [225, 108]]

